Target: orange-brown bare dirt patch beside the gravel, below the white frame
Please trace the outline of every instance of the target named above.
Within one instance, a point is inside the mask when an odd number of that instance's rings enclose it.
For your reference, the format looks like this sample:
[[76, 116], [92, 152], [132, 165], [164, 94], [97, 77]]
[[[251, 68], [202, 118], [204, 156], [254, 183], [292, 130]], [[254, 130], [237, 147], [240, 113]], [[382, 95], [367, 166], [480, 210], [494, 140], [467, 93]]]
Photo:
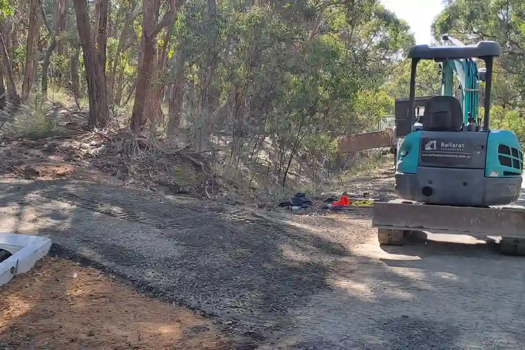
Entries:
[[46, 257], [0, 295], [7, 349], [233, 348], [205, 317], [66, 259]]

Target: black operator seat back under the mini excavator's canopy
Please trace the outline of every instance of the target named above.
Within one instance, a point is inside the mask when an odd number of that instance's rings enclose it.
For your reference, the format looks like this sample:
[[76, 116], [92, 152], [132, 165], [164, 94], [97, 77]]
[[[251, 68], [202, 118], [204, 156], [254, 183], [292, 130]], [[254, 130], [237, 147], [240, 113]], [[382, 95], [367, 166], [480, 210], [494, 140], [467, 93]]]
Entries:
[[425, 104], [424, 131], [459, 131], [463, 126], [461, 103], [453, 96], [434, 96]]

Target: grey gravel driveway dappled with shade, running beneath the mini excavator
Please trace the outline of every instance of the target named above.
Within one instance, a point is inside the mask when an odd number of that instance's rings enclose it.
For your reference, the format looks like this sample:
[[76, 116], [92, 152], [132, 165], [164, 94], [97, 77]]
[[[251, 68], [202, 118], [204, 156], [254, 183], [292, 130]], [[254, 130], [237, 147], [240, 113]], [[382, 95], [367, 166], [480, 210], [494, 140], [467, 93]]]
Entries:
[[469, 237], [384, 251], [365, 211], [253, 215], [85, 182], [0, 189], [2, 230], [192, 306], [245, 349], [525, 348], [525, 260]]

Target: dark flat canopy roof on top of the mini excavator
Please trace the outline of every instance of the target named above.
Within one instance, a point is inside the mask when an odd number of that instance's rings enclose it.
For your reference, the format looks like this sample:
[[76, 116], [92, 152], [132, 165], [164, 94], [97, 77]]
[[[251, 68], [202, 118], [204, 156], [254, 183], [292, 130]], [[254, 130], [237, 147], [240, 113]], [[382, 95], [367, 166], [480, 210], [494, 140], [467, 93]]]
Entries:
[[408, 50], [408, 58], [419, 59], [445, 60], [484, 56], [501, 56], [501, 46], [496, 41], [480, 41], [466, 46], [415, 45]]

